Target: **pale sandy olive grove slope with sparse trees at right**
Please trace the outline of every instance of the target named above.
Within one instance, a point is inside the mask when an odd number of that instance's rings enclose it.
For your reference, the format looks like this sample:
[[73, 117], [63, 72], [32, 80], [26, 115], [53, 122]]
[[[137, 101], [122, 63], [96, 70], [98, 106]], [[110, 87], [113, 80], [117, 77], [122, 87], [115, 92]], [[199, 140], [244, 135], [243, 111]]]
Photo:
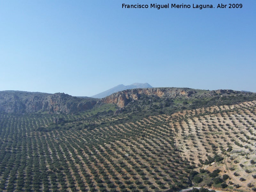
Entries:
[[[199, 186], [225, 182], [229, 188], [249, 191], [248, 186], [255, 185], [255, 102], [186, 111], [172, 119], [181, 156], [199, 167]], [[216, 177], [207, 174], [216, 169]]]

